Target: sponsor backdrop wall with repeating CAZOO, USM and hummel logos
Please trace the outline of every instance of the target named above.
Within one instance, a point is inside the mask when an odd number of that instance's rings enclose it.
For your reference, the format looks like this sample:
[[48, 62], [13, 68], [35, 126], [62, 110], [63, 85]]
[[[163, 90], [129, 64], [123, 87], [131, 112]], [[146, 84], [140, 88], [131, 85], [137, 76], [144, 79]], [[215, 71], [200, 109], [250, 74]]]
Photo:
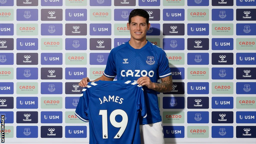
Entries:
[[158, 97], [165, 141], [255, 142], [255, 6], [256, 0], [0, 0], [6, 142], [89, 142], [88, 123], [74, 115], [78, 82], [101, 76], [110, 50], [128, 41], [134, 8], [148, 11], [147, 39], [165, 50], [173, 74], [172, 91]]

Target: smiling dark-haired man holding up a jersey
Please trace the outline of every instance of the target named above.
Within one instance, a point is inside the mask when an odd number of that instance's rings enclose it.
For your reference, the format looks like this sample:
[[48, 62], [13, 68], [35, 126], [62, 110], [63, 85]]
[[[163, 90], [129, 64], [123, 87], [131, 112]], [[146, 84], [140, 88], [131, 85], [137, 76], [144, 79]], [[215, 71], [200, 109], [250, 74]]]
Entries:
[[[149, 28], [149, 14], [145, 10], [131, 11], [127, 23], [130, 41], [111, 50], [104, 75], [94, 81], [112, 81], [115, 76], [117, 80], [137, 80], [144, 87], [148, 114], [139, 121], [141, 142], [164, 144], [157, 92], [171, 91], [172, 77], [164, 50], [146, 40]], [[159, 78], [162, 83], [157, 83]], [[83, 78], [79, 85], [87, 87], [89, 81]]]

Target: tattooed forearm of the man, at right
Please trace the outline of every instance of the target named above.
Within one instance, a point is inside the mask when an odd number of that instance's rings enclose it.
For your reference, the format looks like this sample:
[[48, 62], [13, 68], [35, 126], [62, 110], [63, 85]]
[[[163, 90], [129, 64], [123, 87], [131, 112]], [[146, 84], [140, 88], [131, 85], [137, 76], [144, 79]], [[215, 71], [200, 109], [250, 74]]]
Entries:
[[154, 83], [153, 90], [158, 92], [169, 92], [172, 89], [172, 76], [169, 75], [165, 78], [161, 78], [162, 83]]

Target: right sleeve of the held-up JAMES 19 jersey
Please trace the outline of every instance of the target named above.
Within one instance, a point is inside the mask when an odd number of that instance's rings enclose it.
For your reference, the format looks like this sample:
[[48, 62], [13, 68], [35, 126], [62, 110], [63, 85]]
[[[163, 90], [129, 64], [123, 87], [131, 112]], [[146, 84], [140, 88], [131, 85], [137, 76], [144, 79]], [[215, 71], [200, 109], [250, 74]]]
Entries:
[[137, 110], [141, 110], [142, 117], [146, 118], [146, 102], [144, 97], [144, 90], [141, 86], [138, 87], [137, 94]]

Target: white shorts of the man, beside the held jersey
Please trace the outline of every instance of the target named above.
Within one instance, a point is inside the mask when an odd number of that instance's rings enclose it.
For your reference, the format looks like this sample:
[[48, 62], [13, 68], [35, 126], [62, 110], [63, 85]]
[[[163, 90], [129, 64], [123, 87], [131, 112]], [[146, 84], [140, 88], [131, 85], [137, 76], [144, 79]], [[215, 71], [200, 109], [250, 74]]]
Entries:
[[139, 125], [141, 144], [165, 144], [162, 122]]

